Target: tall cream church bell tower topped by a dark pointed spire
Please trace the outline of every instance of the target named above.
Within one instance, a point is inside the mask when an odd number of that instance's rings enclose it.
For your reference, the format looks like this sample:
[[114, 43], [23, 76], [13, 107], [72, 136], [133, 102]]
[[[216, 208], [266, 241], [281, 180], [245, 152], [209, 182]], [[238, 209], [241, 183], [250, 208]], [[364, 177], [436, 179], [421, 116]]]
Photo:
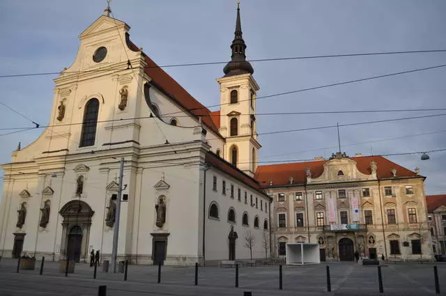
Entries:
[[224, 66], [224, 77], [217, 79], [220, 84], [220, 134], [226, 138], [224, 159], [254, 176], [261, 148], [256, 133], [256, 92], [259, 85], [252, 77], [252, 65], [246, 61], [242, 34], [240, 3], [237, 3], [231, 61]]

